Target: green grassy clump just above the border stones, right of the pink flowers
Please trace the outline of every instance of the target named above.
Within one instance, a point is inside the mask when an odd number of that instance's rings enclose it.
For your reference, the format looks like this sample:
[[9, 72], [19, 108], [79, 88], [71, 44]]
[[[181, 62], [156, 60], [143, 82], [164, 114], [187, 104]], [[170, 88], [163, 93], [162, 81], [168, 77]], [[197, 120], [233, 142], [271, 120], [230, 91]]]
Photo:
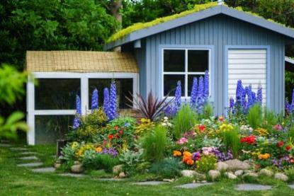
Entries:
[[227, 130], [222, 133], [223, 143], [227, 150], [231, 149], [234, 158], [237, 158], [241, 147], [239, 133], [237, 129]]

